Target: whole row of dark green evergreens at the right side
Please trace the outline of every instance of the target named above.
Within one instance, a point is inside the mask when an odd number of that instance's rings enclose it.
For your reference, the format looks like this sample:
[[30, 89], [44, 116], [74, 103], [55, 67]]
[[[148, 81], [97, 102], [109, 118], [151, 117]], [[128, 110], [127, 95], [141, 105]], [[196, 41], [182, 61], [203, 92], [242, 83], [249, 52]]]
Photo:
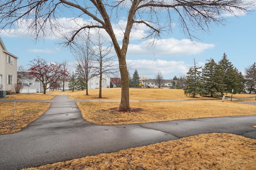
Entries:
[[[185, 95], [195, 97], [218, 96], [226, 93], [244, 93], [246, 90], [251, 93], [256, 89], [256, 67], [255, 63], [245, 69], [245, 76], [236, 69], [227, 59], [224, 53], [222, 59], [216, 63], [214, 59], [207, 60], [204, 67], [197, 67], [194, 59], [194, 66], [190, 67], [186, 76]], [[251, 69], [251, 70], [250, 70]], [[202, 71], [200, 71], [202, 70]]]

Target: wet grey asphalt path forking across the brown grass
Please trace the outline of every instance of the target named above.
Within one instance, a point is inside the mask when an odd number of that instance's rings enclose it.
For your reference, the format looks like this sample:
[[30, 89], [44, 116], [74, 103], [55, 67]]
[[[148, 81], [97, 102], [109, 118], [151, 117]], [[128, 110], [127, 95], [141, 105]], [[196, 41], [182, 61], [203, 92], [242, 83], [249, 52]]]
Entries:
[[[47, 102], [47, 101], [45, 101]], [[256, 138], [256, 115], [103, 126], [85, 121], [77, 100], [52, 99], [36, 121], [14, 134], [0, 135], [0, 169], [12, 170], [114, 152], [210, 132]]]

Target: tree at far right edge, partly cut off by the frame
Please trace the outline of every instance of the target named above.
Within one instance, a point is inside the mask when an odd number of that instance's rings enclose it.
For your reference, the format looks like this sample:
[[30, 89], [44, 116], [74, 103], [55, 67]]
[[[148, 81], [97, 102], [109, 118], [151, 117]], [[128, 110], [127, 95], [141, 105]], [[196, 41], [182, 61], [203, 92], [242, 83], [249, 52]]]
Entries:
[[246, 67], [244, 69], [246, 79], [246, 90], [251, 94], [256, 93], [256, 63]]

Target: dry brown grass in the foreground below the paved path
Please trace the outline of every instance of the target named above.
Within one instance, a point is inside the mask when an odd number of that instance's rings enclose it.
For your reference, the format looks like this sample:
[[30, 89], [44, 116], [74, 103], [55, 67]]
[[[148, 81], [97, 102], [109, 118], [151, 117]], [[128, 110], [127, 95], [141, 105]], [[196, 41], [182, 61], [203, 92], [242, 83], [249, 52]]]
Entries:
[[211, 133], [28, 170], [255, 170], [256, 140]]

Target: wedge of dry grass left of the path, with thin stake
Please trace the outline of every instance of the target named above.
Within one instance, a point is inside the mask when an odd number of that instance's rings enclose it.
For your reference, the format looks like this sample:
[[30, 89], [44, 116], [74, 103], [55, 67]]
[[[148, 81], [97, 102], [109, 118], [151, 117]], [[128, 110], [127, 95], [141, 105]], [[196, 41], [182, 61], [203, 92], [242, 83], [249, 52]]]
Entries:
[[0, 134], [8, 134], [20, 131], [22, 128], [35, 121], [49, 107], [50, 103], [16, 102], [14, 113], [14, 126], [12, 130], [14, 102], [0, 103]]

